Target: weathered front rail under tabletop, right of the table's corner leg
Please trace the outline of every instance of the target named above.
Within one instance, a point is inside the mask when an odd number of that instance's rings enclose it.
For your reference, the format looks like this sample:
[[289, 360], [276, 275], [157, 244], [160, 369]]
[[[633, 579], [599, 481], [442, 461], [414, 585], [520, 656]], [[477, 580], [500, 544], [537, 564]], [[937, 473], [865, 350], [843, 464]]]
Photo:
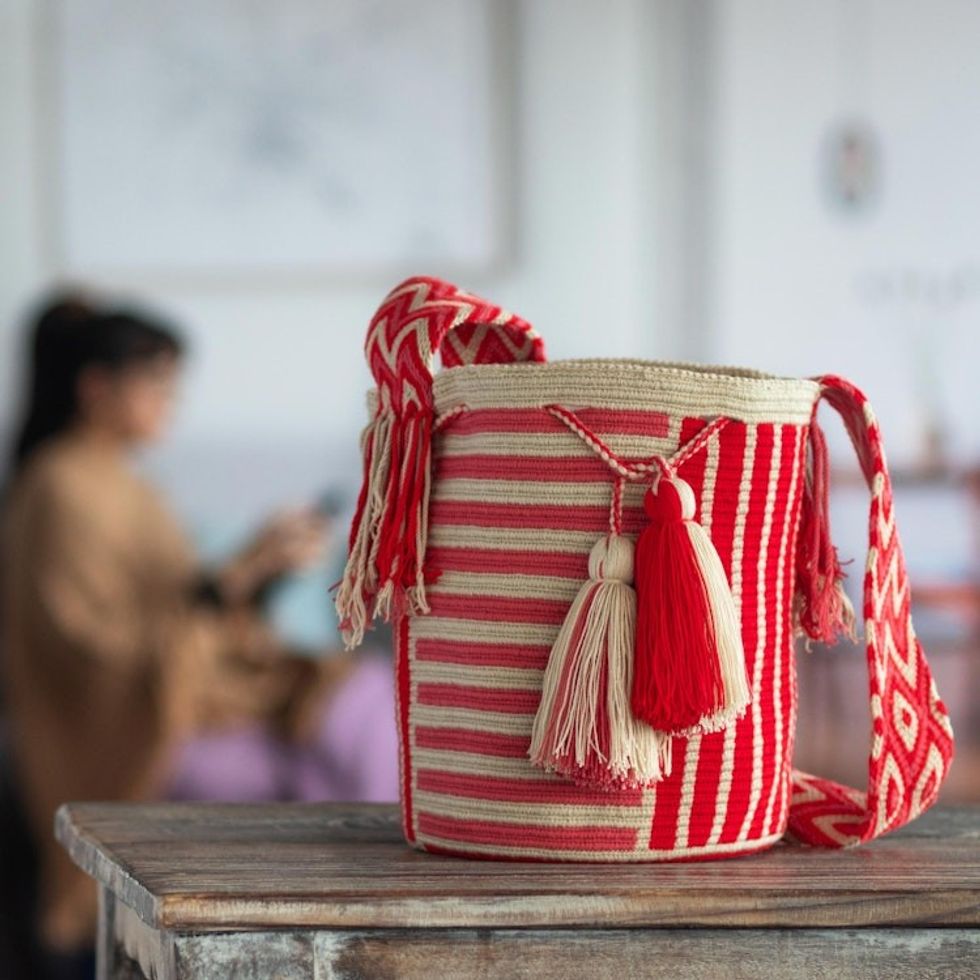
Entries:
[[980, 936], [961, 929], [388, 931], [318, 935], [306, 976], [423, 980], [438, 963], [452, 980], [973, 980], [978, 957]]

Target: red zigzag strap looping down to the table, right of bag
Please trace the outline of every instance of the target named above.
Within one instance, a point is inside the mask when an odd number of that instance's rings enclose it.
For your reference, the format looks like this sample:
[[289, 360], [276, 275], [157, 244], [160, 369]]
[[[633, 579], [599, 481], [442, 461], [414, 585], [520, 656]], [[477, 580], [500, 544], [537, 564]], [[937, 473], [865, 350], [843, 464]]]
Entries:
[[821, 398], [844, 421], [871, 490], [864, 576], [871, 753], [866, 792], [794, 771], [789, 832], [806, 844], [850, 847], [901, 827], [935, 802], [953, 759], [953, 730], [912, 627], [878, 423], [850, 382], [817, 380]]

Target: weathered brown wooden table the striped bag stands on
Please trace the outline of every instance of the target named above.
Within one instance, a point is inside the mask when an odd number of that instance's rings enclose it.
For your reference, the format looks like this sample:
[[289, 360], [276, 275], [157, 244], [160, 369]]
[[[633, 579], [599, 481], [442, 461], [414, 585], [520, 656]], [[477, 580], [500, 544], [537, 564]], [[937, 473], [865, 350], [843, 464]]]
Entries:
[[99, 976], [980, 976], [980, 808], [852, 851], [528, 864], [410, 850], [394, 807], [69, 804]]

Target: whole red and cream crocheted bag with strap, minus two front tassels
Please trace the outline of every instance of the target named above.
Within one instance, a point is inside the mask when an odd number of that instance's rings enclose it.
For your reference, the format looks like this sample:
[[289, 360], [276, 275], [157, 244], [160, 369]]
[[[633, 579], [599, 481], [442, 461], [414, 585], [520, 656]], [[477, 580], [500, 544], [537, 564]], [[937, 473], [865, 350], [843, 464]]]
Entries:
[[[418, 355], [411, 370], [406, 348]], [[456, 366], [433, 378], [439, 348]], [[728, 857], [768, 847], [787, 830], [811, 844], [859, 843], [934, 801], [951, 730], [911, 626], [880, 436], [857, 389], [836, 378], [691, 365], [546, 363], [524, 321], [428, 279], [389, 295], [368, 355], [379, 391], [370, 400], [351, 565], [360, 554], [367, 567], [365, 555], [383, 555], [398, 538], [388, 581], [400, 569], [409, 598], [398, 602], [392, 588], [386, 603], [383, 576], [372, 581], [369, 569], [352, 578], [349, 566], [339, 605], [348, 628], [352, 595], [362, 605], [375, 599], [395, 620], [410, 843], [530, 860]], [[399, 407], [391, 391], [408, 391], [406, 377], [422, 394]], [[801, 619], [812, 635], [827, 634], [800, 583], [826, 597], [840, 575], [825, 526], [826, 454], [815, 424], [822, 399], [843, 415], [872, 492], [865, 793], [792, 769], [795, 635]], [[382, 443], [409, 412], [412, 425], [421, 412], [422, 434], [395, 439], [393, 449]], [[382, 446], [390, 472], [378, 469]], [[656, 779], [582, 785], [532, 764], [532, 730], [549, 656], [589, 575], [590, 550], [609, 528], [611, 500], [620, 533], [633, 540], [644, 527], [649, 480], [619, 477], [651, 458], [673, 460], [694, 492], [693, 519], [734, 600], [749, 704], [719, 730], [670, 735], [668, 766]], [[410, 516], [406, 499], [420, 516]], [[400, 524], [385, 525], [392, 509]], [[409, 552], [417, 554], [414, 579]], [[831, 566], [821, 566], [828, 554]]]

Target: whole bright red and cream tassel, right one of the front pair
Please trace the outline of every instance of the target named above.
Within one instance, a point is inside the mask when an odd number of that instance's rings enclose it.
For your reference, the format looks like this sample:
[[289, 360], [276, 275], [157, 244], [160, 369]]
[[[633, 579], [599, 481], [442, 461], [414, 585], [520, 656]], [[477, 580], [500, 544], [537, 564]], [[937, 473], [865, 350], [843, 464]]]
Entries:
[[690, 484], [661, 476], [644, 498], [650, 523], [636, 547], [631, 704], [668, 734], [716, 731], [749, 703], [738, 613], [696, 507]]

